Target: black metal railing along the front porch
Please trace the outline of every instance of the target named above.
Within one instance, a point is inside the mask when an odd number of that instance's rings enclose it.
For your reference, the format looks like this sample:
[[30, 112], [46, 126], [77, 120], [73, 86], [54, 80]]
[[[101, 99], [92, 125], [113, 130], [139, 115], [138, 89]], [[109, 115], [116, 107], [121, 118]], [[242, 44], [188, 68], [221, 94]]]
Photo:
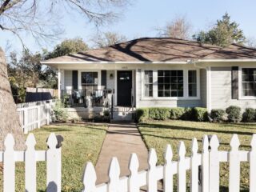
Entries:
[[112, 93], [112, 90], [62, 90], [61, 98], [66, 107], [110, 107]]

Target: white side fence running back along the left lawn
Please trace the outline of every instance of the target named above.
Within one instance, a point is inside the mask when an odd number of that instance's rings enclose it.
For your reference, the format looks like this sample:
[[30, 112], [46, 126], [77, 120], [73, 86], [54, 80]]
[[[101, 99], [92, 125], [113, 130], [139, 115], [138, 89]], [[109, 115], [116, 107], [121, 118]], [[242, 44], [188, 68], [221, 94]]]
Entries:
[[54, 101], [26, 102], [17, 104], [18, 116], [24, 134], [30, 130], [49, 125], [51, 122], [51, 109]]

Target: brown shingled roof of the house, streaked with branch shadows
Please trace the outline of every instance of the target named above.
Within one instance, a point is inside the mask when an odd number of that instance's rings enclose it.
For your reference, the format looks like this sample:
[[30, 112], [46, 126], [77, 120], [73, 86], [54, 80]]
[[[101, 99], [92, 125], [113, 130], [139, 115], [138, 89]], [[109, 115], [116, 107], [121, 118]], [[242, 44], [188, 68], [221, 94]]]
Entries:
[[226, 48], [178, 38], [138, 38], [101, 49], [52, 58], [46, 62], [186, 62], [191, 59], [256, 58], [256, 50]]

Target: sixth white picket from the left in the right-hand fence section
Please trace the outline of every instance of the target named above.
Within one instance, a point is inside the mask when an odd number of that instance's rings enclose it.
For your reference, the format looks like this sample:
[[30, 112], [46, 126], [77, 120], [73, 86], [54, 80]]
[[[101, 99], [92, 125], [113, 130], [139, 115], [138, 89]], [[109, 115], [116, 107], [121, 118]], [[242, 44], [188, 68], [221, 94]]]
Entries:
[[178, 146], [178, 192], [186, 192], [186, 147], [184, 142], [179, 142]]

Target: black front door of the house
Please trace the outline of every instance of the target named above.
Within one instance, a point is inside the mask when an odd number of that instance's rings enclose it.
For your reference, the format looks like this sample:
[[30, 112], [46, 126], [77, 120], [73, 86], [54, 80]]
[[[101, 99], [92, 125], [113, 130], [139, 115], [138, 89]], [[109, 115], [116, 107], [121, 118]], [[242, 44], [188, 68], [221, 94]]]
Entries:
[[118, 70], [118, 106], [131, 106], [131, 89], [131, 70]]

